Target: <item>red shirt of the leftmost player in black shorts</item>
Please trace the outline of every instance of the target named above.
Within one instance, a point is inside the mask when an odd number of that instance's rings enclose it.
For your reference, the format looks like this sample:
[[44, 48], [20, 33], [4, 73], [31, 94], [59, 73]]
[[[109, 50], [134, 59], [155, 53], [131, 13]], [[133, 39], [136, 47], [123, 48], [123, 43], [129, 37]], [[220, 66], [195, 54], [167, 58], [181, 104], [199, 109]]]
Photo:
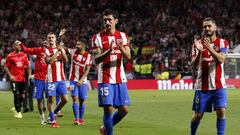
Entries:
[[16, 82], [24, 82], [25, 69], [30, 66], [30, 63], [24, 52], [11, 52], [7, 55], [5, 66], [14, 76]]

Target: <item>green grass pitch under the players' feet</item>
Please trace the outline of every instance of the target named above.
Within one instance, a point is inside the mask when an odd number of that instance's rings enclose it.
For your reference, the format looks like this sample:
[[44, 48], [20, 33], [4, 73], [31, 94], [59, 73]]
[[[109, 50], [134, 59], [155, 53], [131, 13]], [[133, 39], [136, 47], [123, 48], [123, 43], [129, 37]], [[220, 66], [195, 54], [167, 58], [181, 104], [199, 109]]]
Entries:
[[[129, 114], [114, 127], [114, 135], [189, 135], [193, 114], [194, 91], [129, 91]], [[240, 134], [240, 91], [228, 90], [226, 135]], [[89, 91], [86, 101], [86, 124], [73, 125], [72, 100], [63, 108], [63, 118], [58, 118], [59, 129], [40, 125], [34, 101], [34, 112], [13, 117], [11, 92], [0, 92], [0, 135], [99, 135], [102, 109], [97, 106], [97, 92]], [[216, 135], [216, 114], [206, 113], [198, 128], [198, 135]]]

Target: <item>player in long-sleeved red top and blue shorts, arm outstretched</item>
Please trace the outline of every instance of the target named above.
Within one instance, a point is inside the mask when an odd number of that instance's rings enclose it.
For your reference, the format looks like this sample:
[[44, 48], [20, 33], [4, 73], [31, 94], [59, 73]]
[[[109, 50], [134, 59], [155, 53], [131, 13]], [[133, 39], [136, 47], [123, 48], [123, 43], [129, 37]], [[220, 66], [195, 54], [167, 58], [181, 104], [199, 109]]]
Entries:
[[[19, 41], [20, 42], [20, 41]], [[34, 86], [33, 97], [37, 99], [38, 112], [42, 125], [46, 125], [46, 118], [44, 114], [44, 93], [46, 95], [46, 75], [47, 63], [45, 62], [45, 49], [48, 46], [47, 41], [44, 41], [43, 47], [27, 48], [22, 42], [20, 46], [25, 53], [36, 55], [35, 69], [34, 69]]]

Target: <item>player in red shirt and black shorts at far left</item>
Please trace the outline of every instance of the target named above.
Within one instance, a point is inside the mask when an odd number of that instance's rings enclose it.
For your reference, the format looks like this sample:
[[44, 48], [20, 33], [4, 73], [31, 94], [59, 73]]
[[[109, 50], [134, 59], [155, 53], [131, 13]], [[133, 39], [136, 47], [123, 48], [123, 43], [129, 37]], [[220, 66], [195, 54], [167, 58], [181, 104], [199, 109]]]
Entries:
[[13, 52], [7, 55], [4, 68], [9, 76], [14, 95], [15, 108], [12, 108], [14, 117], [22, 118], [21, 106], [25, 98], [27, 85], [25, 80], [25, 69], [27, 69], [28, 78], [30, 78], [31, 68], [28, 57], [24, 52], [21, 51], [18, 40], [13, 43], [13, 50]]

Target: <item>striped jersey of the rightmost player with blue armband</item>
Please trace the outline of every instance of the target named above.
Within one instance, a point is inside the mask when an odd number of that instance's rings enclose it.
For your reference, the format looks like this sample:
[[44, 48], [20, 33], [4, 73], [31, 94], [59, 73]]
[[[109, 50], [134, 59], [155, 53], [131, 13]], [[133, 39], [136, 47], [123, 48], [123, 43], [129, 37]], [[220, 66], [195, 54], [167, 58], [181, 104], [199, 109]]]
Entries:
[[[203, 41], [201, 41], [203, 43]], [[227, 54], [229, 49], [228, 41], [217, 38], [214, 42], [210, 44], [214, 50], [218, 53]], [[192, 58], [197, 56], [199, 51], [196, 46], [193, 45], [192, 48]], [[221, 88], [226, 88], [225, 78], [224, 78], [224, 62], [219, 63], [211, 55], [211, 53], [203, 45], [203, 50], [201, 52], [200, 63], [198, 66], [197, 80], [195, 89], [196, 90], [216, 90]]]

